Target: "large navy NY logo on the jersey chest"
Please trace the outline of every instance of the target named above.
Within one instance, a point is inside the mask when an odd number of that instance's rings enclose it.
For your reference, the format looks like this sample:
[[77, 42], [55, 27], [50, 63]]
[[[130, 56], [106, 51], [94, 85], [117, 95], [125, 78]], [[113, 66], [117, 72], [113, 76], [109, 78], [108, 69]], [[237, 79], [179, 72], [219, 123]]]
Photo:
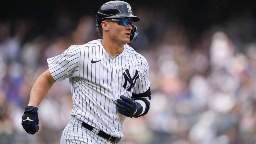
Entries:
[[130, 91], [134, 87], [137, 78], [139, 78], [138, 71], [135, 70], [135, 75], [133, 76], [133, 78], [131, 78], [129, 69], [126, 69], [125, 72], [123, 72], [123, 76], [124, 76], [124, 80], [125, 80], [124, 84], [123, 84], [123, 88], [126, 88], [127, 81], [128, 81], [130, 83], [130, 87], [127, 90]]

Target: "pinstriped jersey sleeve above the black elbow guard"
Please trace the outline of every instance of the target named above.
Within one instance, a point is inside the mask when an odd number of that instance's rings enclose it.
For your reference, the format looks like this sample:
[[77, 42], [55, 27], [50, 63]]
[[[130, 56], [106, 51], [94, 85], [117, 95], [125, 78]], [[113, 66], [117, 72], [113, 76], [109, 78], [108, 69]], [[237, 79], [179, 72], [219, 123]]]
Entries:
[[135, 94], [146, 92], [150, 86], [150, 82], [149, 82], [149, 78], [148, 78], [149, 67], [147, 64], [147, 60], [143, 57], [143, 58], [141, 58], [141, 61], [142, 61], [142, 63], [141, 63], [142, 76], [140, 77], [138, 84], [135, 85], [134, 90], [132, 92]]

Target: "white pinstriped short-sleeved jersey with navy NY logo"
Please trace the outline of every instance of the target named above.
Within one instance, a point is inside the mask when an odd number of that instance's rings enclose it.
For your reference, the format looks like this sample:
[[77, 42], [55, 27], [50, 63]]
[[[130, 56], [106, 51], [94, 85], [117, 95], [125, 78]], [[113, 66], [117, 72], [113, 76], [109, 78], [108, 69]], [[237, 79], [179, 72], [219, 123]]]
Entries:
[[73, 100], [70, 123], [85, 122], [114, 137], [123, 137], [126, 116], [116, 108], [120, 95], [131, 98], [149, 88], [147, 60], [129, 45], [111, 58], [101, 39], [71, 45], [62, 54], [47, 59], [56, 81], [69, 78]]

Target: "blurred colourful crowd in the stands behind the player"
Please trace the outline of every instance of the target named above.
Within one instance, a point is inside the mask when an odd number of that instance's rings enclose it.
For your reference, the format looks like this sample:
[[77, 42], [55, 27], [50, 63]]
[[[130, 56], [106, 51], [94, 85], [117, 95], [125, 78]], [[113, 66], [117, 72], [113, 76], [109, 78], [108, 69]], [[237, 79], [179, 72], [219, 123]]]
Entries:
[[[152, 99], [147, 115], [125, 119], [121, 143], [256, 144], [256, 19], [231, 18], [190, 42], [163, 10], [136, 15], [138, 39], [129, 45], [148, 61]], [[71, 17], [60, 13], [41, 34], [31, 18], [0, 21], [0, 144], [59, 143], [72, 109], [68, 79], [40, 104], [35, 135], [21, 116], [46, 59], [98, 39], [94, 16]]]

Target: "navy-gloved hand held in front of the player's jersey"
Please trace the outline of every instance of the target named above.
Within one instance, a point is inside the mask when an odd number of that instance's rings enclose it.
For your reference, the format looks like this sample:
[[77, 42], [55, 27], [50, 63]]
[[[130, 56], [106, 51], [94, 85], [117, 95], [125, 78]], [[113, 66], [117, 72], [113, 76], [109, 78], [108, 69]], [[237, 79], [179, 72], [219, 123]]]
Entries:
[[142, 112], [142, 106], [126, 96], [121, 95], [117, 99], [117, 111], [125, 116], [136, 117]]

